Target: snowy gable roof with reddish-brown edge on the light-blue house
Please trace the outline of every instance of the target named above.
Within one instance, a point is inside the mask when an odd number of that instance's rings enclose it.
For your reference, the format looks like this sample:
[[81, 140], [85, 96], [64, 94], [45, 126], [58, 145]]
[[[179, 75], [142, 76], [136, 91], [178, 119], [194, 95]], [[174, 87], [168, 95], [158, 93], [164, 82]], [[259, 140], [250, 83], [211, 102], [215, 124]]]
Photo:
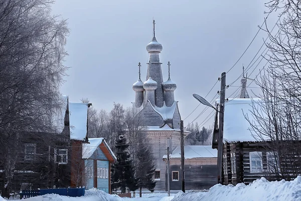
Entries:
[[88, 143], [83, 144], [82, 157], [85, 159], [90, 158], [98, 147], [100, 147], [101, 151], [109, 161], [114, 162], [117, 160], [113, 151], [106, 143], [105, 138], [89, 138]]

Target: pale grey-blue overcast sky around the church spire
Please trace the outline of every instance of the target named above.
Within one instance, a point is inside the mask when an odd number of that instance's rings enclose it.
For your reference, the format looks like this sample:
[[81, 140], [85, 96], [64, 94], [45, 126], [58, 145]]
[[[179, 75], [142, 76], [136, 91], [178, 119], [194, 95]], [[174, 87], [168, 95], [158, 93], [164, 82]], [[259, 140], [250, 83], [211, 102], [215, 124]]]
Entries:
[[[227, 72], [226, 84], [231, 85], [226, 89], [226, 97], [238, 95], [240, 78], [237, 78], [242, 66], [247, 68], [266, 38], [263, 30], [237, 60], [267, 16], [264, 11], [267, 8], [260, 0], [56, 1], [53, 14], [67, 19], [70, 28], [66, 45], [69, 55], [65, 58], [65, 65], [70, 68], [61, 92], [69, 95], [71, 102], [87, 97], [94, 108], [107, 112], [114, 103], [130, 107], [134, 101], [132, 84], [138, 79], [138, 62], [142, 65], [142, 81], [146, 77], [145, 48], [152, 40], [155, 19], [156, 38], [163, 45], [160, 54], [163, 78], [168, 79], [170, 61], [171, 78], [177, 83], [175, 99], [179, 101], [184, 125], [198, 122], [210, 127], [214, 121], [213, 109], [207, 108], [204, 113], [206, 106], [196, 109], [199, 103], [192, 94], [205, 97], [212, 88], [206, 99], [214, 100], [220, 90], [220, 82], [216, 81], [222, 72]], [[271, 29], [277, 19], [276, 13], [271, 14], [267, 26]], [[250, 79], [266, 63], [264, 59], [259, 61], [260, 58], [247, 70]], [[250, 87], [247, 89], [250, 96], [259, 94], [255, 82]]]

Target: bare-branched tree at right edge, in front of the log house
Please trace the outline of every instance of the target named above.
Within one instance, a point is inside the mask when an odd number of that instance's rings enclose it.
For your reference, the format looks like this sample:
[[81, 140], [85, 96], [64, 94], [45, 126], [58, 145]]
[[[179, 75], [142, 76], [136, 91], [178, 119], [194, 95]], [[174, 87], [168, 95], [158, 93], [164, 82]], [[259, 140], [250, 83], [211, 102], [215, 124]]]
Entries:
[[269, 175], [292, 179], [301, 174], [301, 3], [272, 0], [266, 5], [269, 12], [280, 11], [281, 21], [277, 34], [266, 28], [269, 67], [256, 81], [262, 100], [253, 102], [253, 117], [246, 118], [272, 155]]

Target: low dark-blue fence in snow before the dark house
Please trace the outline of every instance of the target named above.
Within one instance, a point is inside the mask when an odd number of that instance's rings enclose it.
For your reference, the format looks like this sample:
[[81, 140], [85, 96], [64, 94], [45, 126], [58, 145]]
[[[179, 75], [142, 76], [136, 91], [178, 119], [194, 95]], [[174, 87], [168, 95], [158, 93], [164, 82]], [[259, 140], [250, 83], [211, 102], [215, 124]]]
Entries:
[[70, 197], [80, 197], [85, 195], [85, 188], [49, 188], [49, 189], [34, 189], [34, 190], [24, 190], [20, 192], [20, 198], [34, 197], [44, 194], [59, 194]]

